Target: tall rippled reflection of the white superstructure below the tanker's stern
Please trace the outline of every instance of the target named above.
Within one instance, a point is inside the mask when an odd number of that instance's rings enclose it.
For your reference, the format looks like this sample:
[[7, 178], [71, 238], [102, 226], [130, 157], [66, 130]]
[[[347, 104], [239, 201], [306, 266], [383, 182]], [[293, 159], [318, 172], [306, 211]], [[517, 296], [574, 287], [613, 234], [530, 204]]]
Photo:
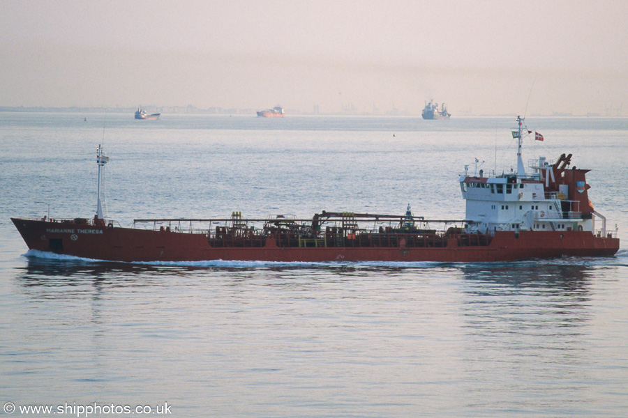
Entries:
[[[595, 355], [588, 344], [595, 327], [595, 269], [562, 261], [461, 268], [468, 284], [461, 304], [461, 363], [469, 403], [490, 403], [509, 415], [534, 411], [541, 416], [552, 399], [573, 410], [595, 403], [593, 386], [599, 380], [590, 373]], [[484, 398], [487, 387], [502, 396]], [[521, 393], [525, 398], [512, 396]], [[553, 413], [564, 415], [569, 409]]]

